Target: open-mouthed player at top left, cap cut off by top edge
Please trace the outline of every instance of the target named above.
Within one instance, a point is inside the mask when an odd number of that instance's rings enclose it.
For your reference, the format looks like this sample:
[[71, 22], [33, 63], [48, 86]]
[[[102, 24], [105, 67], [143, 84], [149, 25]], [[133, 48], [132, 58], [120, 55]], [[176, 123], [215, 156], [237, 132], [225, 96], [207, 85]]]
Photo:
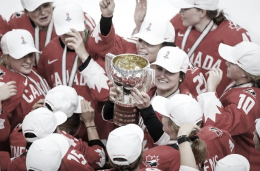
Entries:
[[[9, 23], [10, 29], [26, 29], [34, 37], [36, 49], [42, 51], [53, 38], [57, 37], [53, 29], [53, 2], [54, 0], [21, 0], [24, 11], [12, 14]], [[86, 27], [94, 29], [94, 20], [84, 12]], [[36, 64], [39, 61], [36, 55]]]

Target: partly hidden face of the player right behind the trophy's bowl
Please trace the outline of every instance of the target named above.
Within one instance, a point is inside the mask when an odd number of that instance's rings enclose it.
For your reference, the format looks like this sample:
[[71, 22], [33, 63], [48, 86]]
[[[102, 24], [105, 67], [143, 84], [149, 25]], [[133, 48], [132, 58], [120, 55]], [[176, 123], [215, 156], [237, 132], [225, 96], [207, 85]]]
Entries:
[[151, 64], [155, 62], [157, 53], [162, 46], [163, 46], [162, 44], [151, 45], [142, 39], [138, 39], [138, 43], [136, 44], [136, 49], [138, 50], [138, 55], [145, 57]]

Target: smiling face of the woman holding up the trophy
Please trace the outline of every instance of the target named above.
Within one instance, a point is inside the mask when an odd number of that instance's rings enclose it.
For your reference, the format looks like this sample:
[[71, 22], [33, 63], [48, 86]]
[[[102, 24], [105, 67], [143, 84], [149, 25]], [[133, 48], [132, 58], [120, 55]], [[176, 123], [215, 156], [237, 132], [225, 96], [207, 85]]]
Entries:
[[180, 73], [170, 73], [165, 68], [156, 65], [155, 85], [160, 96], [168, 96], [179, 88]]

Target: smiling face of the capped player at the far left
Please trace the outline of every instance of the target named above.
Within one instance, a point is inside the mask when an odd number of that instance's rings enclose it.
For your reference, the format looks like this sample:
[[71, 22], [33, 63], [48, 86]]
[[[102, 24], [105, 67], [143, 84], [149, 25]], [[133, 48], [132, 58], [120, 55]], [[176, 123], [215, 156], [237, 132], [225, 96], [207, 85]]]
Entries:
[[8, 66], [18, 73], [28, 75], [31, 73], [31, 68], [34, 66], [35, 57], [34, 53], [29, 53], [19, 60], [8, 56]]

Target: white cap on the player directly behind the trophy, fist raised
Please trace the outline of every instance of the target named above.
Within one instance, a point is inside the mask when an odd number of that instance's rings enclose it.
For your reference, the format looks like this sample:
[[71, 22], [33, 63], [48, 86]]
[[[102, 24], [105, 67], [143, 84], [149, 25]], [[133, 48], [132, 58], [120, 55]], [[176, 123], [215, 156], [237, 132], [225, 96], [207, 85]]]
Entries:
[[166, 18], [145, 18], [139, 33], [133, 37], [157, 45], [163, 42], [174, 42], [175, 31], [172, 23]]

